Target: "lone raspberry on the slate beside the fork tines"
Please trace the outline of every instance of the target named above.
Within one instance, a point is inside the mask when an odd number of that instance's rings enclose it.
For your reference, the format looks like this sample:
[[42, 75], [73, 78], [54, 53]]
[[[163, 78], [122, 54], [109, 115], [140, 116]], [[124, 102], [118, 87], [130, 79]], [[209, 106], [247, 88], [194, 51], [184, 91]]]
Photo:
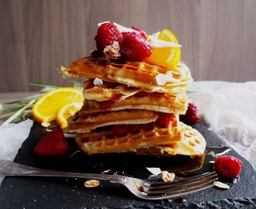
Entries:
[[219, 156], [215, 159], [214, 169], [220, 176], [232, 180], [237, 178], [242, 168], [242, 161], [234, 156]]

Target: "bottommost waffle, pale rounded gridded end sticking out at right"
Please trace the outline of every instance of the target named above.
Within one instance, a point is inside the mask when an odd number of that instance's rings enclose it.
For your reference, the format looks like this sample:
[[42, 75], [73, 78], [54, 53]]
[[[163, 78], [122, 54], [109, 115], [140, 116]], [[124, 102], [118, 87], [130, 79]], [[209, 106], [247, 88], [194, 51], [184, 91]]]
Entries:
[[181, 123], [182, 140], [171, 143], [168, 146], [154, 146], [149, 149], [137, 149], [137, 154], [155, 156], [202, 156], [206, 149], [206, 140], [203, 136], [189, 125]]

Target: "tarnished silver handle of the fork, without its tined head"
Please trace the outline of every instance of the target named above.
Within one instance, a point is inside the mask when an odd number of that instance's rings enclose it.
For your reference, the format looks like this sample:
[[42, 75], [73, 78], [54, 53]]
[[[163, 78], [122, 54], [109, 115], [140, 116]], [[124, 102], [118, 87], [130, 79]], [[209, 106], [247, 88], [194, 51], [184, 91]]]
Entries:
[[25, 166], [19, 163], [14, 163], [9, 160], [0, 160], [0, 175], [3, 176], [54, 176], [54, 177], [74, 177], [96, 180], [110, 180], [112, 182], [119, 181], [124, 176], [108, 175], [98, 173], [74, 173], [62, 172], [55, 170], [43, 170], [31, 166]]

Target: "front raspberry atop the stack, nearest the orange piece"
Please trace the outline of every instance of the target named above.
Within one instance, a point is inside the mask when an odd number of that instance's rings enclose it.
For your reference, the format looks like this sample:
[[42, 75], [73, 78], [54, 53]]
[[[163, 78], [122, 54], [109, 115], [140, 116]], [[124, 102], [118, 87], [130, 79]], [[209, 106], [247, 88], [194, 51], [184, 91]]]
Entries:
[[120, 45], [121, 55], [129, 61], [141, 61], [150, 57], [152, 46], [140, 34], [132, 32], [126, 34]]

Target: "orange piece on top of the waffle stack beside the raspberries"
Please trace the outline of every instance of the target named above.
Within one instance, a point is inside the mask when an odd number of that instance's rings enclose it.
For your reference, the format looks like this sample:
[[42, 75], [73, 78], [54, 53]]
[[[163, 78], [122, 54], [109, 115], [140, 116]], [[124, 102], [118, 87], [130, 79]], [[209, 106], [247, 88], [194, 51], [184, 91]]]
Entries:
[[[171, 33], [170, 30], [164, 29], [159, 33], [157, 39], [164, 41], [177, 43], [178, 39], [175, 37], [175, 34]], [[154, 47], [150, 57], [145, 61], [161, 65], [162, 67], [170, 67], [171, 69], [175, 68], [179, 61], [181, 60], [181, 48], [180, 47]]]

